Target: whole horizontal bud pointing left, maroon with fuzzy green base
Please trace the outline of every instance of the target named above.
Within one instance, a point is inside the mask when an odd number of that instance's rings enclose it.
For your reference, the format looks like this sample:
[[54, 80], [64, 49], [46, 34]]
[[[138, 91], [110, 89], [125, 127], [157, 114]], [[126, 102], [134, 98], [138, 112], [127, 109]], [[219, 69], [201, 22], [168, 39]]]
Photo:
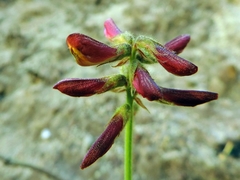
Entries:
[[101, 94], [124, 85], [126, 85], [125, 76], [118, 74], [98, 79], [64, 79], [55, 84], [53, 88], [69, 96], [81, 97]]

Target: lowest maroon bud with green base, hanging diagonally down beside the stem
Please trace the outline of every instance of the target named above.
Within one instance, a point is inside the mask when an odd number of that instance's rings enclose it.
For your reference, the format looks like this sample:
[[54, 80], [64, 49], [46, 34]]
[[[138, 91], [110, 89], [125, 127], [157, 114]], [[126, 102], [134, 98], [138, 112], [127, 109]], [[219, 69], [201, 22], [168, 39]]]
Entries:
[[81, 163], [81, 169], [84, 169], [93, 164], [97, 159], [102, 157], [113, 145], [115, 138], [124, 128], [128, 118], [130, 107], [125, 104], [116, 110], [107, 128], [98, 137], [96, 142], [88, 150], [86, 156]]

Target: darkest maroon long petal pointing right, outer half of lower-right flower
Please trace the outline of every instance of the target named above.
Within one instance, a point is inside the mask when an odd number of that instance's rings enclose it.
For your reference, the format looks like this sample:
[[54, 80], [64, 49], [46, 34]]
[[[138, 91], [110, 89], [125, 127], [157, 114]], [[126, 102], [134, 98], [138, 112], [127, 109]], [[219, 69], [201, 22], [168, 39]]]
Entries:
[[218, 94], [208, 91], [178, 90], [161, 88], [162, 97], [159, 101], [179, 106], [196, 106], [218, 98]]

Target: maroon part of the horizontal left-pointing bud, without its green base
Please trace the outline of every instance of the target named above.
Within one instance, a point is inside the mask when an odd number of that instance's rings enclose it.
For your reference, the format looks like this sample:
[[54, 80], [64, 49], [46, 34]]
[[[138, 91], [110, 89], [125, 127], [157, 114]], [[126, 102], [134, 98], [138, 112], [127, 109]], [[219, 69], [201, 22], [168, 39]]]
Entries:
[[106, 83], [107, 79], [64, 79], [54, 85], [64, 94], [73, 97], [91, 96], [96, 94]]

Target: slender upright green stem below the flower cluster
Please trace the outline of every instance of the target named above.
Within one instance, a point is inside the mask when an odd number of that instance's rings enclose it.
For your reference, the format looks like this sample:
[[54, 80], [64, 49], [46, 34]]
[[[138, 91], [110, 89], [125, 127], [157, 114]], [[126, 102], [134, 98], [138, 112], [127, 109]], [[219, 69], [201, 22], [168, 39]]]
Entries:
[[132, 131], [133, 131], [133, 97], [131, 89], [127, 90], [127, 102], [130, 105], [130, 118], [125, 126], [125, 155], [124, 155], [124, 180], [132, 179]]

